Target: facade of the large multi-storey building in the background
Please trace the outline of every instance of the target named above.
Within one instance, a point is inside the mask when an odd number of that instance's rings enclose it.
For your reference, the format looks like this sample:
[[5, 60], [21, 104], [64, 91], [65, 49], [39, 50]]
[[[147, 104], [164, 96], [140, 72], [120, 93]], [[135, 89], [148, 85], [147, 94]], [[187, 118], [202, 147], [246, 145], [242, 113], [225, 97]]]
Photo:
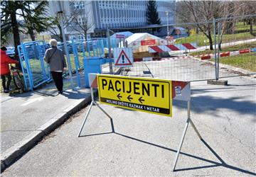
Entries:
[[[75, 18], [66, 28], [66, 33], [79, 35], [81, 31], [85, 32], [85, 28], [86, 33], [90, 33], [92, 37], [104, 37], [107, 28], [114, 32], [149, 32], [150, 27], [146, 23], [147, 4], [148, 1], [140, 0], [69, 1], [71, 16]], [[175, 23], [175, 14], [170, 10], [176, 5], [175, 0], [156, 0], [156, 4], [161, 25]], [[166, 14], [166, 11], [169, 13]], [[166, 34], [166, 28], [163, 29]]]

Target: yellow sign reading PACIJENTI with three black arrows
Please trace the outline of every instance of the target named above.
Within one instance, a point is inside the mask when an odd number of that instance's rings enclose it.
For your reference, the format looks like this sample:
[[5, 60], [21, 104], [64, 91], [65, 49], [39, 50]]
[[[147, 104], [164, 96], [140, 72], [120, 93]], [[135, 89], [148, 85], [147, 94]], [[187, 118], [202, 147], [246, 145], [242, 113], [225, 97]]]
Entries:
[[97, 75], [100, 103], [171, 116], [171, 81]]

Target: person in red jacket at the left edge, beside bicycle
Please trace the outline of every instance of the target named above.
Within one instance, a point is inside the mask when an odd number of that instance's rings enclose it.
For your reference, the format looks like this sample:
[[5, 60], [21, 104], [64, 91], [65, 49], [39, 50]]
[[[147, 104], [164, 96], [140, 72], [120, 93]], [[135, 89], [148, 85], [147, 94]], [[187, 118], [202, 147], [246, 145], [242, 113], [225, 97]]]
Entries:
[[[4, 89], [4, 93], [9, 93], [10, 91], [10, 84], [11, 84], [11, 72], [9, 69], [9, 64], [17, 64], [18, 61], [11, 59], [8, 57], [6, 54], [6, 47], [1, 47], [1, 79], [2, 79], [2, 86]], [[6, 78], [7, 78], [7, 83], [6, 83]]]

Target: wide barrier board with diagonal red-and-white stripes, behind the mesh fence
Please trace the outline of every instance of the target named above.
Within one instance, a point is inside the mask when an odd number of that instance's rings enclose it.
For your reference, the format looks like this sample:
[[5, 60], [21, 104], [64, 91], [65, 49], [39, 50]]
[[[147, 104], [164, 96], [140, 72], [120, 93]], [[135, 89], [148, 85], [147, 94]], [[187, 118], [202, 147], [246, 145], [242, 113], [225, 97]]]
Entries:
[[177, 50], [193, 50], [196, 49], [196, 43], [185, 43], [185, 44], [175, 44], [175, 45], [157, 45], [149, 46], [149, 53], [161, 53], [161, 52], [171, 52]]

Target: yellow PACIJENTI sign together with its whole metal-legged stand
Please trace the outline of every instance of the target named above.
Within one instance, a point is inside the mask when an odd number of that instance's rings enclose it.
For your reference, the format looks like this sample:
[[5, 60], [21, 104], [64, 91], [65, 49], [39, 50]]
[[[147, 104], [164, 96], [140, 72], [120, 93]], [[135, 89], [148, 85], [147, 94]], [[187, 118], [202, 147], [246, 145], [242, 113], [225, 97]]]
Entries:
[[[166, 79], [151, 79], [137, 78], [127, 76], [114, 76], [107, 74], [89, 74], [89, 83], [92, 96], [89, 110], [85, 115], [85, 120], [78, 133], [78, 137], [85, 125], [87, 116], [90, 113], [92, 105], [97, 105], [107, 117], [112, 118], [103, 110], [100, 105], [95, 102], [92, 89], [98, 89], [100, 103], [114, 105], [120, 108], [130, 110], [139, 110], [146, 113], [156, 115], [172, 116], [172, 100], [187, 101], [188, 103], [188, 118], [181, 136], [181, 142], [178, 146], [176, 158], [174, 160], [173, 171], [178, 161], [178, 156], [181, 152], [183, 140], [186, 135], [189, 123], [199, 139], [203, 140], [196, 126], [191, 120], [191, 86], [190, 82], [186, 81], [169, 81]], [[114, 132], [114, 129], [112, 129]]]

